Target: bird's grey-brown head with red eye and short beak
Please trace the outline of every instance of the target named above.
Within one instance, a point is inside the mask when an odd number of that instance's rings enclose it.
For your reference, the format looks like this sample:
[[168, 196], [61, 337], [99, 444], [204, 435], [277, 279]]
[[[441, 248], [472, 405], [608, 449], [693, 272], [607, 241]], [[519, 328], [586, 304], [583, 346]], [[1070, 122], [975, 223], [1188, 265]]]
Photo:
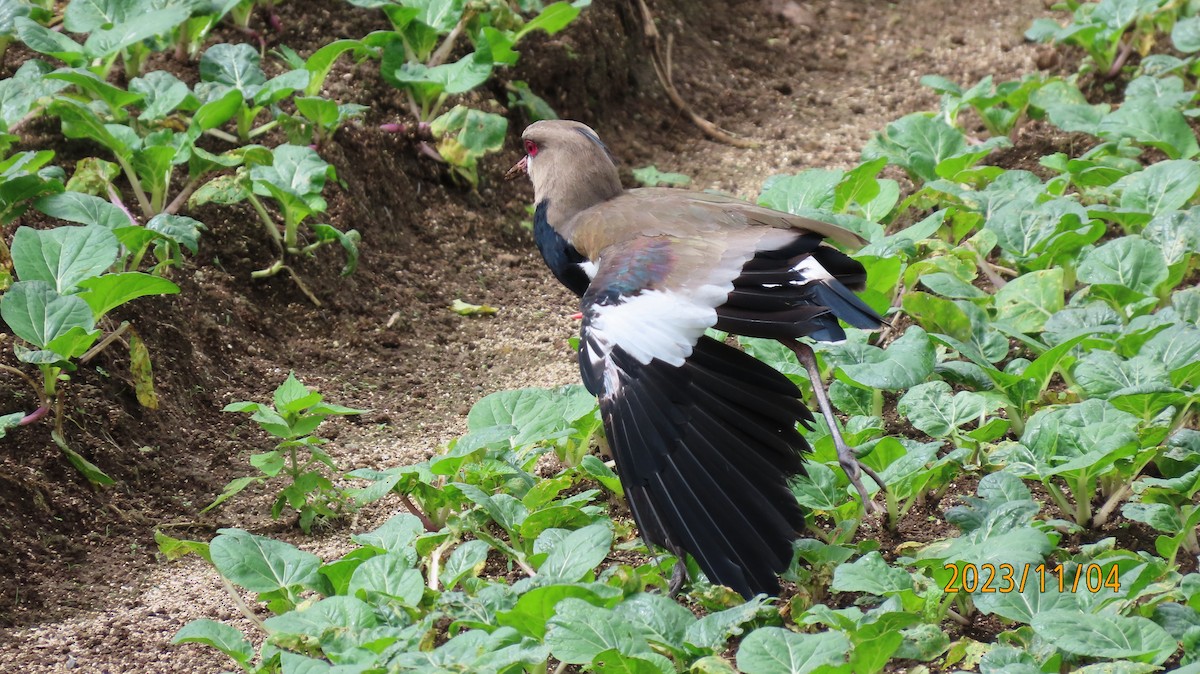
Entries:
[[528, 174], [535, 203], [550, 199], [552, 209], [577, 212], [620, 194], [617, 164], [588, 125], [542, 120], [524, 130], [521, 143], [526, 156], [506, 177]]

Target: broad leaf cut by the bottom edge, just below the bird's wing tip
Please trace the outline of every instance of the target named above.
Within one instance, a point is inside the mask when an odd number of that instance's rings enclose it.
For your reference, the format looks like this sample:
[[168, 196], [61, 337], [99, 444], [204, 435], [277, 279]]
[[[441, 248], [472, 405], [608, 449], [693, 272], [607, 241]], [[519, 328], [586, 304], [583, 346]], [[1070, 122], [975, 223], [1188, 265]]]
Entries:
[[738, 669], [745, 674], [805, 674], [846, 663], [851, 645], [841, 632], [798, 634], [781, 627], [760, 627], [738, 646]]

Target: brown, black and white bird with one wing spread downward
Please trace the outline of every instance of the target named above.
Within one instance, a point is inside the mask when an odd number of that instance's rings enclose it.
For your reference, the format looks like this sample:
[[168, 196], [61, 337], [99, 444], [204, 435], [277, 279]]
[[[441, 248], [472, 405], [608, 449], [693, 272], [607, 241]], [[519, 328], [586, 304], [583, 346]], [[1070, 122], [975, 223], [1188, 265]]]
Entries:
[[[521, 136], [533, 235], [553, 276], [581, 297], [578, 366], [599, 398], [605, 437], [646, 543], [684, 553], [745, 598], [778, 595], [804, 511], [790, 481], [814, 416], [799, 389], [708, 329], [778, 339], [812, 380], [839, 463], [863, 504], [866, 471], [842, 440], [811, 347], [884, 319], [859, 299], [866, 271], [829, 245], [864, 241], [840, 227], [734, 197], [625, 189], [596, 132], [542, 120]], [[874, 505], [874, 504], [871, 504]], [[648, 546], [649, 547], [649, 546]]]

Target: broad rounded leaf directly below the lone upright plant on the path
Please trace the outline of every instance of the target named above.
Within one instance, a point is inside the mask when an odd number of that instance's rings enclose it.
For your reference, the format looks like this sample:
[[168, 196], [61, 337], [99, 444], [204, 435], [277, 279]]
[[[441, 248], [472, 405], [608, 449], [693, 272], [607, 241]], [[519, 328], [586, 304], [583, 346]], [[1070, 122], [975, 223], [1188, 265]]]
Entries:
[[[209, 544], [222, 576], [253, 592], [319, 586], [320, 558], [241, 529], [221, 529]], [[319, 632], [318, 632], [319, 634]]]

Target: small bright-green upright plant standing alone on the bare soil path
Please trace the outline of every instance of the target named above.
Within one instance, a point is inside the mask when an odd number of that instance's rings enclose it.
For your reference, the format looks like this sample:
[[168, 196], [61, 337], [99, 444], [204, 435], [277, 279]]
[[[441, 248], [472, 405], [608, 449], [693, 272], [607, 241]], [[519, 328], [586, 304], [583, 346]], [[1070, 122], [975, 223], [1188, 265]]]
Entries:
[[250, 464], [258, 469], [258, 475], [229, 482], [204, 510], [221, 505], [251, 485], [286, 481], [287, 486], [280, 489], [271, 504], [272, 518], [278, 519], [284, 508], [290, 507], [300, 516], [300, 529], [308, 534], [316, 522], [342, 516], [352, 501], [329, 475], [336, 475], [337, 467], [332, 457], [320, 449], [328, 440], [314, 433], [330, 416], [362, 414], [364, 410], [323, 401], [320, 393], [301, 384], [294, 373], [288, 373], [288, 378], [275, 390], [271, 404], [239, 402], [226, 405], [223, 411], [248, 413], [259, 428], [278, 438], [280, 443], [269, 452], [250, 457]]

